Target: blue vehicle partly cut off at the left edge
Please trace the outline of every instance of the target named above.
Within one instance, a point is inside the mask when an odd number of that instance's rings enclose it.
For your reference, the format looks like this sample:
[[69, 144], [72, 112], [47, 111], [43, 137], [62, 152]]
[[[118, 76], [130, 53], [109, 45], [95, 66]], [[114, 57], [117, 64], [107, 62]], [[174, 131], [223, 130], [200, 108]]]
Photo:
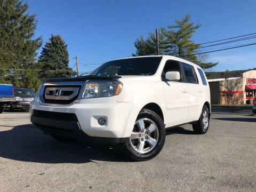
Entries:
[[4, 107], [11, 106], [11, 102], [16, 101], [13, 93], [13, 85], [0, 84], [0, 113], [3, 113]]

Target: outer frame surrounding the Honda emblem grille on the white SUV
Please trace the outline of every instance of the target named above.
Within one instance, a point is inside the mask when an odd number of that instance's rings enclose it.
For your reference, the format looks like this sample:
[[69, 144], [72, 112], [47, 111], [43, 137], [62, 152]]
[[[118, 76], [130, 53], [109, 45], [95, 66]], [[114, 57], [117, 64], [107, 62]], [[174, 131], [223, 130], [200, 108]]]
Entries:
[[[54, 106], [54, 107], [68, 107], [74, 105], [77, 101], [79, 101], [82, 97], [84, 86], [86, 81], [78, 81], [78, 82], [43, 82], [41, 85], [41, 89], [38, 95], [38, 100], [43, 106]], [[81, 85], [81, 90], [79, 92], [78, 98], [69, 103], [69, 104], [60, 104], [60, 103], [46, 103], [43, 97], [45, 86], [63, 86], [63, 85]]]

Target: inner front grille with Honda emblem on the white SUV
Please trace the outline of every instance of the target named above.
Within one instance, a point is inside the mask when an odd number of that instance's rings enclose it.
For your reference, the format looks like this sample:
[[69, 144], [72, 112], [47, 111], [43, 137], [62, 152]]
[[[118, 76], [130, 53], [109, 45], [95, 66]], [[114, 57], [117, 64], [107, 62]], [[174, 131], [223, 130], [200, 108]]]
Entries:
[[81, 85], [45, 86], [43, 97], [46, 103], [70, 104], [81, 91]]

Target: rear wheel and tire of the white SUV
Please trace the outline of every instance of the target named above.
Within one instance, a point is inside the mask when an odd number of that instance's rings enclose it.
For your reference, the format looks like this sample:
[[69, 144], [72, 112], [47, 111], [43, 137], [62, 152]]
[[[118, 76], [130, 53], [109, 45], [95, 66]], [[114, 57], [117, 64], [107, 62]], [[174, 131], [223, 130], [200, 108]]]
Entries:
[[210, 115], [209, 115], [209, 109], [204, 105], [202, 109], [201, 116], [199, 117], [199, 120], [193, 124], [193, 130], [197, 134], [204, 134], [209, 129], [209, 122], [210, 122]]

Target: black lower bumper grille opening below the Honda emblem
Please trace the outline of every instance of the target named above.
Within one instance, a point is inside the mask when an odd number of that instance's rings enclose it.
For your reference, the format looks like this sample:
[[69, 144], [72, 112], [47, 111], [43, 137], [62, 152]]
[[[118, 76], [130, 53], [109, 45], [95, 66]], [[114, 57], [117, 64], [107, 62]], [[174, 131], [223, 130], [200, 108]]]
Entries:
[[59, 113], [34, 109], [34, 116], [47, 119], [55, 119], [58, 121], [78, 122], [76, 115], [72, 113]]

